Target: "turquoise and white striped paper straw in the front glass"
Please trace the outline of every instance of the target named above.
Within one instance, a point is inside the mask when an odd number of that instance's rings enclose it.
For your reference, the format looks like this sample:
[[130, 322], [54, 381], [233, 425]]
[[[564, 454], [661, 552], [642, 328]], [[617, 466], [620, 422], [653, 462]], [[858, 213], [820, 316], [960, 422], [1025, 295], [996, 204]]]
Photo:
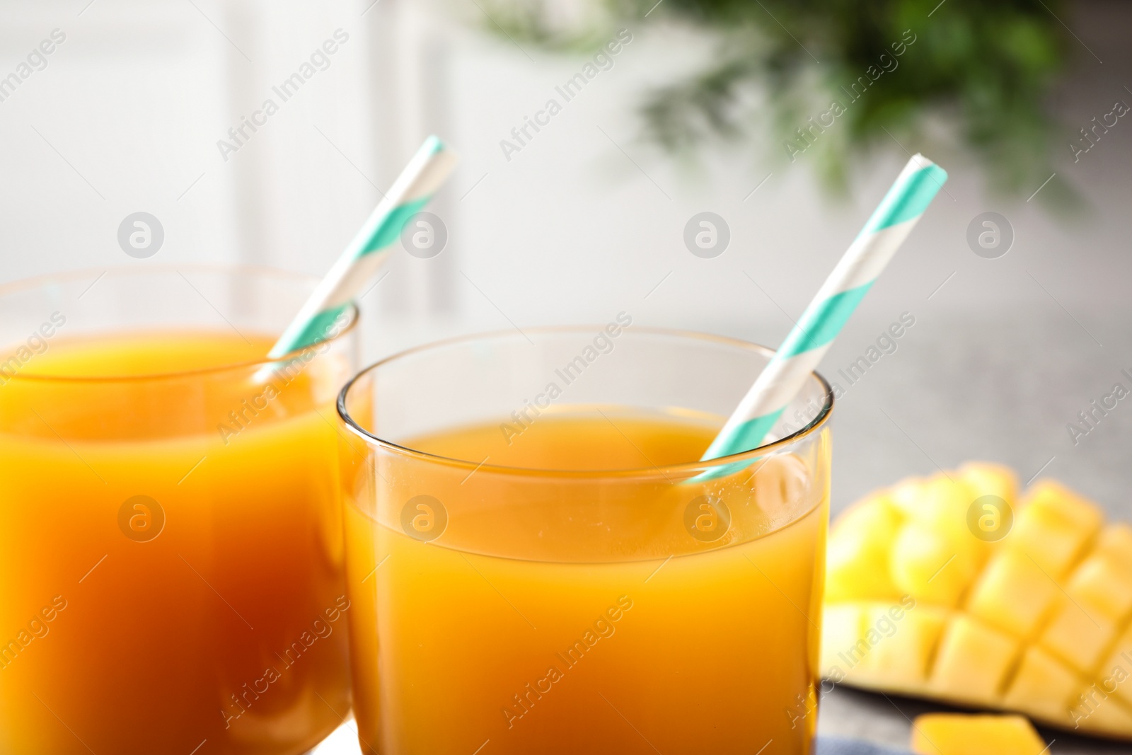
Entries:
[[927, 157], [908, 161], [701, 461], [762, 444], [946, 180]]

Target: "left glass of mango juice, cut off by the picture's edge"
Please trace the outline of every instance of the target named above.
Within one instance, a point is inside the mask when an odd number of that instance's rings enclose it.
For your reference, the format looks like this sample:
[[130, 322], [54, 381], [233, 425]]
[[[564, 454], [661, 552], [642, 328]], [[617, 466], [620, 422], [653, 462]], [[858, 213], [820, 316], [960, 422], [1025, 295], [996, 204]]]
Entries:
[[316, 281], [128, 268], [0, 290], [0, 753], [290, 755], [350, 709]]

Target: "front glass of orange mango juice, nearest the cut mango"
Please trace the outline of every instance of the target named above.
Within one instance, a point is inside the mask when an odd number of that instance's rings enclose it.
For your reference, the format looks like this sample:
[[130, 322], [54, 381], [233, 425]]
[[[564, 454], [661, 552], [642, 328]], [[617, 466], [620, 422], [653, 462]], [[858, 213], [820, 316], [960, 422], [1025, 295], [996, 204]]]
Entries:
[[808, 755], [827, 384], [809, 378], [773, 443], [696, 461], [771, 353], [621, 312], [348, 384], [362, 750]]

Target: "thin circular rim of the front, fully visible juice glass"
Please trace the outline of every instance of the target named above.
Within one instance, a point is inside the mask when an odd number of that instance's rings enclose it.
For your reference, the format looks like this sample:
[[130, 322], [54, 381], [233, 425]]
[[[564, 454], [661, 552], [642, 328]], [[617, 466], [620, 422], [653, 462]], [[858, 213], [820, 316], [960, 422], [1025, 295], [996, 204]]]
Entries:
[[[530, 327], [524, 328], [520, 335], [535, 333], [543, 335], [554, 334], [585, 334], [592, 335], [593, 329], [600, 329], [601, 325], [557, 325], [557, 326], [542, 326], [542, 327]], [[774, 350], [770, 346], [764, 346], [762, 344], [753, 343], [749, 341], [743, 341], [740, 338], [730, 338], [727, 336], [714, 335], [710, 333], [700, 333], [696, 331], [684, 331], [678, 328], [655, 328], [655, 327], [635, 327], [633, 328], [633, 334], [641, 335], [659, 335], [674, 338], [680, 338], [685, 341], [698, 341], [698, 342], [713, 342], [720, 345], [727, 345], [732, 348], [739, 348], [744, 351], [756, 352], [765, 355], [767, 359], [774, 354]], [[822, 377], [817, 370], [813, 370], [809, 377], [816, 378], [818, 385], [822, 386], [825, 395], [825, 401], [822, 404], [822, 409], [817, 414], [807, 422], [805, 426], [798, 430], [779, 438], [772, 443], [764, 444], [752, 448], [751, 451], [745, 451], [738, 454], [730, 454], [727, 456], [720, 456], [719, 458], [712, 458], [706, 462], [694, 461], [694, 462], [680, 462], [679, 464], [667, 464], [664, 466], [644, 466], [635, 469], [624, 469], [624, 470], [551, 470], [551, 469], [537, 469], [526, 466], [507, 466], [504, 464], [487, 464], [484, 462], [474, 462], [465, 458], [453, 458], [451, 456], [441, 456], [439, 454], [431, 454], [424, 451], [419, 451], [417, 448], [410, 448], [392, 440], [386, 440], [379, 438], [374, 432], [370, 432], [366, 428], [361, 427], [350, 412], [346, 410], [346, 396], [354, 384], [362, 378], [362, 376], [376, 370], [379, 367], [386, 366], [391, 362], [412, 357], [414, 354], [420, 354], [422, 352], [431, 351], [434, 349], [440, 349], [445, 346], [455, 346], [464, 343], [473, 343], [475, 341], [488, 341], [494, 338], [503, 337], [517, 337], [515, 331], [511, 329], [499, 329], [499, 331], [488, 331], [484, 333], [472, 333], [455, 336], [452, 338], [444, 338], [440, 341], [432, 341], [418, 346], [412, 346], [411, 349], [405, 349], [391, 354], [384, 359], [380, 359], [372, 364], [360, 370], [357, 375], [350, 378], [342, 391], [338, 392], [338, 400], [335, 402], [337, 409], [338, 418], [346, 424], [349, 429], [354, 435], [361, 437], [361, 439], [367, 444], [376, 444], [381, 448], [386, 448], [396, 454], [402, 454], [421, 461], [427, 461], [431, 463], [439, 463], [447, 466], [457, 466], [463, 469], [486, 470], [489, 472], [496, 472], [500, 474], [513, 474], [513, 475], [530, 475], [530, 477], [571, 477], [571, 478], [621, 478], [621, 477], [644, 477], [644, 475], [655, 475], [667, 477], [666, 472], [674, 473], [698, 473], [704, 470], [710, 470], [713, 467], [726, 466], [728, 464], [734, 464], [736, 462], [747, 462], [753, 463], [757, 458], [766, 456], [769, 453], [774, 451], [780, 451], [784, 447], [792, 446], [799, 440], [809, 437], [818, 429], [824, 427], [833, 412], [833, 388], [830, 383]]]

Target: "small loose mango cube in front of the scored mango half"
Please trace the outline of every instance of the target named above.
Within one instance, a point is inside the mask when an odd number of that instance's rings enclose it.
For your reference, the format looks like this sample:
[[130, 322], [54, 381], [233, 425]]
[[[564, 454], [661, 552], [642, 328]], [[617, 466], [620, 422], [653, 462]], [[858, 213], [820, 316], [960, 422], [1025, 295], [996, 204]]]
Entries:
[[1041, 755], [1046, 743], [1021, 715], [925, 713], [912, 721], [916, 755]]

